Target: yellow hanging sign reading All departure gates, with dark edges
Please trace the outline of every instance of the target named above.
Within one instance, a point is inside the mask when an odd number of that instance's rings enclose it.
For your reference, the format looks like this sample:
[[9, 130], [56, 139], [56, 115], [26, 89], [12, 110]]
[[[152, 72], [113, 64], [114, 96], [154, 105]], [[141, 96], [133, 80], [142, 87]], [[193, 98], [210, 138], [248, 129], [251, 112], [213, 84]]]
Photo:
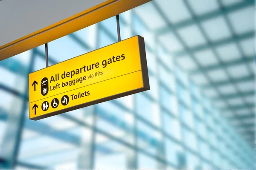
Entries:
[[149, 89], [144, 38], [135, 36], [29, 74], [29, 119]]

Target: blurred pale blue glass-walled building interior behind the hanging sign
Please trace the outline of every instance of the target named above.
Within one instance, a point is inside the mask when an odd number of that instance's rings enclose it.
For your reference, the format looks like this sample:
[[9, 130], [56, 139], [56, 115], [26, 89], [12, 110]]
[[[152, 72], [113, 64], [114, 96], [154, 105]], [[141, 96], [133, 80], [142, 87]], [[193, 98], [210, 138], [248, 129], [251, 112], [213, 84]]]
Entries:
[[[44, 45], [0, 62], [0, 166], [251, 169], [254, 0], [153, 0], [119, 15], [145, 38], [150, 91], [29, 120]], [[49, 65], [117, 42], [116, 17], [48, 43]]]

